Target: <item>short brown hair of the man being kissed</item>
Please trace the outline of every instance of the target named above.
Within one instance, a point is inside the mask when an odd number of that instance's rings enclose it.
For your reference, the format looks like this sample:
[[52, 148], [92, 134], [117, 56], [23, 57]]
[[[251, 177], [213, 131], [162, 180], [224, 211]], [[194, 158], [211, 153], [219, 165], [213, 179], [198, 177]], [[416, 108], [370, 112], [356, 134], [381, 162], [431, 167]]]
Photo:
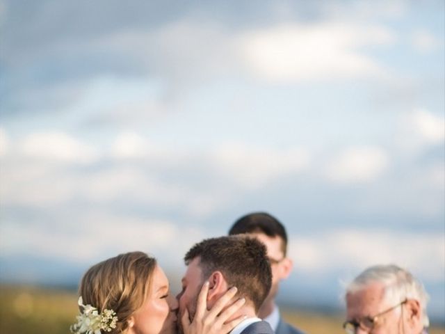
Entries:
[[237, 287], [238, 294], [252, 301], [258, 312], [272, 285], [264, 244], [246, 236], [205, 239], [188, 250], [184, 261], [188, 265], [197, 257], [203, 280], [220, 271], [227, 284]]

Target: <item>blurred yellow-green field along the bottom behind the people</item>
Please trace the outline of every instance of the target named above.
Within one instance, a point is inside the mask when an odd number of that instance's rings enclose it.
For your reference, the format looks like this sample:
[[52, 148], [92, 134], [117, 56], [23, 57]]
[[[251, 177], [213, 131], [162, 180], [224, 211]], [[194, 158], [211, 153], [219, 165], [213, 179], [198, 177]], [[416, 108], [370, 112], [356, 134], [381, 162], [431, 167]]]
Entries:
[[[76, 294], [65, 290], [1, 286], [0, 296], [0, 333], [70, 333], [78, 312]], [[308, 334], [343, 334], [340, 316], [286, 310], [284, 317]], [[429, 333], [445, 334], [445, 328]]]

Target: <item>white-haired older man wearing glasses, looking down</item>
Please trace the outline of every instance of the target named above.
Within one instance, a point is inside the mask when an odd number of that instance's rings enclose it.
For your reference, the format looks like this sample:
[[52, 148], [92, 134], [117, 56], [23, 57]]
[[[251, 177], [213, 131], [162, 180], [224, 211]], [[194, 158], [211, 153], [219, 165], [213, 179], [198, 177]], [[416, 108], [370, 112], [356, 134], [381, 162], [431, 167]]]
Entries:
[[345, 299], [348, 334], [421, 334], [429, 325], [423, 285], [394, 264], [360, 273], [346, 288]]

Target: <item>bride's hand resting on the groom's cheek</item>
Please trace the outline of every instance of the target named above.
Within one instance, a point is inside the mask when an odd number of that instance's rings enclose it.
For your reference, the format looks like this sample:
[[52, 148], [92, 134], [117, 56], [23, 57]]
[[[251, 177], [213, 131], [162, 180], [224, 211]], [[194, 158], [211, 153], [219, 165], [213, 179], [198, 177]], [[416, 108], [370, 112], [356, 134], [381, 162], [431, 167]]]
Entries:
[[245, 316], [241, 315], [236, 319], [225, 321], [232, 317], [234, 313], [239, 310], [245, 303], [245, 299], [238, 299], [235, 303], [226, 308], [223, 312], [223, 308], [230, 304], [230, 301], [236, 294], [236, 287], [232, 287], [221, 296], [211, 310], [207, 310], [207, 294], [209, 292], [209, 282], [202, 285], [199, 296], [197, 297], [196, 313], [193, 321], [190, 321], [188, 317], [188, 310], [184, 310], [184, 315], [181, 317], [182, 328], [184, 334], [227, 334], [232, 331], [236, 325], [245, 319]]

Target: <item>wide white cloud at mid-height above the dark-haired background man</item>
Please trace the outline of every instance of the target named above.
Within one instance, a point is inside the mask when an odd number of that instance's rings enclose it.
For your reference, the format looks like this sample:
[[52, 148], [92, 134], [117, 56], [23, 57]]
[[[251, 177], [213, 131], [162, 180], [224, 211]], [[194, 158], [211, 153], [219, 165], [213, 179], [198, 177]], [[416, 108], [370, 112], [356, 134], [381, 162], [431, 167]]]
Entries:
[[274, 150], [226, 144], [213, 156], [216, 168], [248, 188], [257, 188], [284, 175], [300, 173], [309, 166], [309, 152], [302, 148]]

